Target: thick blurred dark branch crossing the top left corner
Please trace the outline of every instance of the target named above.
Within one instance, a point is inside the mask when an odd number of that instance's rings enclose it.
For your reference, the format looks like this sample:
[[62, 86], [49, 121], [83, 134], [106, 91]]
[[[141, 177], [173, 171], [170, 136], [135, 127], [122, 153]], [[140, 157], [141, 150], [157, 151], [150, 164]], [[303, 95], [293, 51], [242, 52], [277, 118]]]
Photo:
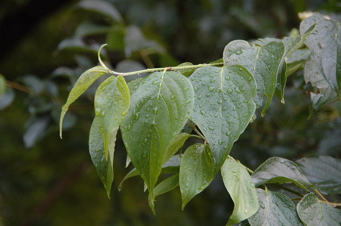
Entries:
[[75, 0], [31, 0], [0, 21], [0, 61], [42, 20]]

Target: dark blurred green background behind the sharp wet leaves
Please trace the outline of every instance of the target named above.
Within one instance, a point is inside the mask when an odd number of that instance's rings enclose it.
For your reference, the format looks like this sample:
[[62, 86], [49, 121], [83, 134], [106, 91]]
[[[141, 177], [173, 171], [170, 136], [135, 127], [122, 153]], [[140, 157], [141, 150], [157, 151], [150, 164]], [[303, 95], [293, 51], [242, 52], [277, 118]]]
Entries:
[[[282, 37], [298, 12], [338, 17], [336, 0], [3, 0], [0, 3], [0, 226], [225, 225], [233, 203], [220, 175], [181, 210], [180, 191], [158, 197], [156, 216], [141, 178], [117, 191], [126, 151], [116, 141], [112, 198], [92, 165], [88, 135], [96, 82], [72, 104], [58, 136], [60, 107], [79, 75], [103, 59], [118, 71], [208, 63], [235, 39]], [[231, 155], [255, 169], [270, 156], [341, 157], [341, 104], [310, 120], [302, 71], [288, 77], [285, 105], [274, 97], [234, 144]], [[2, 97], [3, 98], [3, 97]], [[190, 140], [189, 142], [195, 142]]]

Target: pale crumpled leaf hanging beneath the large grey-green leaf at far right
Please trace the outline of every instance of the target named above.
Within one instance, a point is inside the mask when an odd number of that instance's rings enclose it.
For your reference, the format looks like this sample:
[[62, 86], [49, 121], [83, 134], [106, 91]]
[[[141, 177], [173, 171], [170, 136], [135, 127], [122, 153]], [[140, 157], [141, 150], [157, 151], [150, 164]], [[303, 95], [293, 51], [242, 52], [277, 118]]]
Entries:
[[308, 60], [304, 65], [303, 71], [305, 83], [310, 83], [312, 87], [316, 87], [318, 89], [316, 93], [310, 92], [310, 100], [312, 104], [310, 115], [312, 115], [324, 104], [336, 100], [338, 98], [338, 94], [331, 86], [329, 86], [314, 60]]

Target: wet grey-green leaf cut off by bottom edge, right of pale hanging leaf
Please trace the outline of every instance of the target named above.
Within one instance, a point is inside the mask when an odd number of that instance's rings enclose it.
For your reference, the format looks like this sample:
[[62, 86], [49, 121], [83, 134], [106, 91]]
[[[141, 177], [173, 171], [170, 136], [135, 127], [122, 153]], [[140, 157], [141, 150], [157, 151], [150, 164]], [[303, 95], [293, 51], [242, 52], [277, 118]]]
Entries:
[[284, 194], [257, 189], [259, 209], [248, 218], [251, 226], [303, 226], [295, 205]]

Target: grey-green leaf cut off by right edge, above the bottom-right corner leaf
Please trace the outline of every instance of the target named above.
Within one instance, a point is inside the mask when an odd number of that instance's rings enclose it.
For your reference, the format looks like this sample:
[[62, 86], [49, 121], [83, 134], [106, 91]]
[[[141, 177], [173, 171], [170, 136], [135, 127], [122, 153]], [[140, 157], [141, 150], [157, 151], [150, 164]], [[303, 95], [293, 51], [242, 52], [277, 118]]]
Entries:
[[308, 180], [326, 195], [341, 194], [341, 160], [330, 156], [296, 161]]

